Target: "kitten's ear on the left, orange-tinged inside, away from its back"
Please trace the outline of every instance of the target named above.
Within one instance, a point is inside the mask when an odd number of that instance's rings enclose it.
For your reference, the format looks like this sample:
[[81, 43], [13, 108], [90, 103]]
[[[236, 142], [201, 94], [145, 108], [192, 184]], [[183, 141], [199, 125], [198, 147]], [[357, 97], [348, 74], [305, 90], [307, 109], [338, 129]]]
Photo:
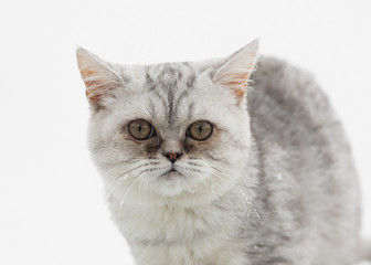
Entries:
[[104, 98], [123, 85], [123, 77], [106, 62], [86, 51], [77, 47], [77, 64], [86, 86], [86, 97], [94, 107], [102, 107]]

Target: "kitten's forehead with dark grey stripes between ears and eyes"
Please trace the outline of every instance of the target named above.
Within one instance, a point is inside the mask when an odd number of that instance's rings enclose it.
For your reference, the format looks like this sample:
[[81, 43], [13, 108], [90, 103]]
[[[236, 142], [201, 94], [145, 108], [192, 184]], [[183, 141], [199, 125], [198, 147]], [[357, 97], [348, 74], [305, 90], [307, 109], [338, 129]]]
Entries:
[[[208, 110], [221, 93], [213, 87], [214, 62], [163, 63], [138, 67], [131, 72], [130, 86], [135, 96], [130, 109], [163, 126], [208, 118]], [[130, 98], [123, 98], [130, 100]], [[202, 113], [202, 115], [200, 115]], [[202, 117], [201, 117], [202, 116]]]

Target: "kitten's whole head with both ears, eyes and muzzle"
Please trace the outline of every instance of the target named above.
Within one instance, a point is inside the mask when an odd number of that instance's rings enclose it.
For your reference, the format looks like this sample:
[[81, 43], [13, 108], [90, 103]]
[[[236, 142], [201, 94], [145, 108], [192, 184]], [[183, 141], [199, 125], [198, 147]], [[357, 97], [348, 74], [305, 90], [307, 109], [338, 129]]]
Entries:
[[247, 82], [258, 42], [195, 63], [126, 66], [86, 50], [89, 147], [123, 203], [206, 203], [242, 177], [250, 148]]

